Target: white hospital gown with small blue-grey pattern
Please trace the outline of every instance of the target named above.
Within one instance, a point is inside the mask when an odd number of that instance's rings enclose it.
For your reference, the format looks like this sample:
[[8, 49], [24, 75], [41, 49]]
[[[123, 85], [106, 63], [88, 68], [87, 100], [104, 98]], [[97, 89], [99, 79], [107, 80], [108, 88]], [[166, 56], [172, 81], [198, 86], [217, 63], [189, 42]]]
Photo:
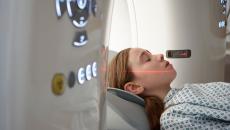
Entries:
[[185, 84], [164, 103], [162, 130], [230, 130], [230, 83]]

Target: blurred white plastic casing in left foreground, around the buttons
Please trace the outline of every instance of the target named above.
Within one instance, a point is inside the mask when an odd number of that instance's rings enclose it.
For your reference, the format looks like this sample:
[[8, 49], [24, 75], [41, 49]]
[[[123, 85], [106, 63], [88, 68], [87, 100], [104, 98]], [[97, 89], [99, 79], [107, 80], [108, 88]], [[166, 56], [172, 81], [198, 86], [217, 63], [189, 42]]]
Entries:
[[[93, 1], [93, 0], [92, 0]], [[105, 71], [108, 15], [112, 0], [97, 0], [84, 28], [65, 12], [57, 18], [55, 0], [0, 1], [0, 129], [105, 130]], [[106, 30], [108, 29], [108, 30]], [[88, 42], [72, 46], [76, 32]], [[95, 63], [97, 63], [95, 68]], [[90, 66], [90, 67], [87, 67]], [[80, 68], [87, 79], [70, 88], [68, 75]], [[52, 93], [52, 79], [64, 75], [64, 93]]]

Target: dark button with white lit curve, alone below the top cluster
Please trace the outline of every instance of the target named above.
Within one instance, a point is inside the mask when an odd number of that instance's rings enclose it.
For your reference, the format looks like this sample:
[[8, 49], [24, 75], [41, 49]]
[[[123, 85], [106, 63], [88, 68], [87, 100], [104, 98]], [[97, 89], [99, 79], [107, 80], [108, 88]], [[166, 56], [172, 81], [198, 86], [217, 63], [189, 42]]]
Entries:
[[84, 46], [88, 42], [86, 31], [77, 32], [73, 41], [74, 47]]

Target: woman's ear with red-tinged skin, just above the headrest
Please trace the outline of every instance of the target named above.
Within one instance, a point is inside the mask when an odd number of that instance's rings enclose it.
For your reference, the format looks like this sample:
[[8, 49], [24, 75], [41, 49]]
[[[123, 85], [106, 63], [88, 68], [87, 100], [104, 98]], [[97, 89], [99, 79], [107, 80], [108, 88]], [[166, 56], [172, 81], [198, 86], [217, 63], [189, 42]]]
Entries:
[[124, 85], [124, 90], [138, 95], [144, 92], [144, 87], [134, 82], [128, 82]]

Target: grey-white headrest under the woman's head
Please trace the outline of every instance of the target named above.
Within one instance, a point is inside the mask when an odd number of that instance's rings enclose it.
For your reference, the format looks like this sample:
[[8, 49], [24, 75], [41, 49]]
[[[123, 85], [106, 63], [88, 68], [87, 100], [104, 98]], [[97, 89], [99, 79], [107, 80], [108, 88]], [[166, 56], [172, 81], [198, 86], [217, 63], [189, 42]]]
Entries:
[[107, 130], [149, 130], [141, 97], [117, 88], [107, 91]]

